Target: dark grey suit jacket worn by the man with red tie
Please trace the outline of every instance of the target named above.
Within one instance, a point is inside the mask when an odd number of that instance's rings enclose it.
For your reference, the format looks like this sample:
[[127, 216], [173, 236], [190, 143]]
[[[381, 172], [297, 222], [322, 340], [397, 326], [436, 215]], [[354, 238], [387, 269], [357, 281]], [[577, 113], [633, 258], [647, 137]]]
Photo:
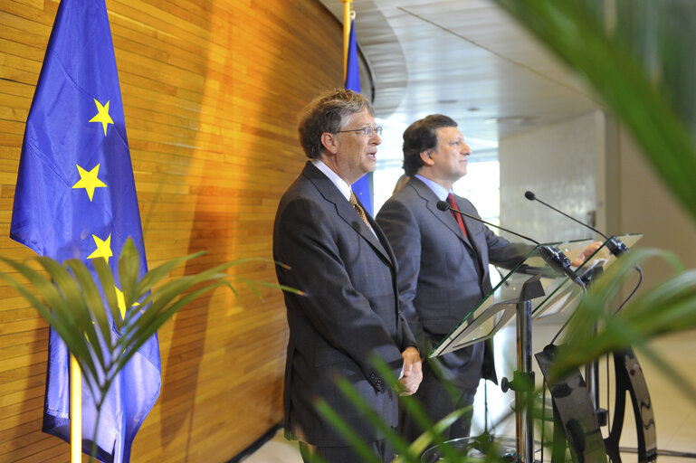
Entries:
[[[456, 201], [462, 212], [478, 216], [471, 202], [461, 196]], [[447, 335], [491, 292], [489, 262], [510, 268], [529, 250], [468, 217], [462, 217], [468, 234], [464, 237], [452, 213], [438, 210], [437, 202], [426, 184], [412, 178], [377, 213], [398, 260], [401, 308], [423, 348]], [[475, 349], [464, 349], [459, 367], [465, 370], [472, 355]], [[495, 380], [491, 352], [482, 374]], [[474, 382], [478, 378], [464, 385]]]

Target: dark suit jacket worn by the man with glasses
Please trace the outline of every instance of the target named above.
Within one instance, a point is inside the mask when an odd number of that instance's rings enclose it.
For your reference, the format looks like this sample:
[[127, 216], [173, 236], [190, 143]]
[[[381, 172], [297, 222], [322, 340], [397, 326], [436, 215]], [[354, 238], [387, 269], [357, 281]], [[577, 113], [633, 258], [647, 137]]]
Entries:
[[377, 223], [377, 237], [336, 185], [308, 163], [283, 195], [273, 230], [278, 281], [304, 291], [284, 293], [290, 339], [285, 371], [285, 430], [316, 446], [348, 445], [315, 409], [329, 403], [367, 441], [383, 439], [338, 391], [348, 380], [383, 420], [397, 424], [394, 392], [371, 359], [398, 377], [402, 351], [416, 345], [398, 307], [396, 260]]

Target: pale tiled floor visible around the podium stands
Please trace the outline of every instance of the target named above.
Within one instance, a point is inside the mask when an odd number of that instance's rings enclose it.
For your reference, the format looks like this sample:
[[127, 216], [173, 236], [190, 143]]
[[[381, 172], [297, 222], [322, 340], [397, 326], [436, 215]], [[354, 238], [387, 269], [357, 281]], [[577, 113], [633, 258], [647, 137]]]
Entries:
[[[538, 352], [548, 340], [555, 334], [558, 324], [551, 322], [535, 324], [533, 351]], [[510, 376], [515, 362], [515, 329], [514, 323], [504, 328], [496, 335], [496, 362], [499, 367], [499, 377]], [[671, 335], [654, 340], [650, 347], [664, 361], [671, 364], [690, 384], [696, 387], [696, 332], [685, 332], [679, 335]], [[672, 450], [677, 452], [689, 452], [696, 454], [696, 395], [688, 396], [675, 386], [671, 375], [666, 375], [656, 364], [648, 362], [647, 356], [637, 353], [638, 359], [644, 370], [648, 383], [648, 389], [654, 404], [655, 424], [657, 430], [658, 451]], [[533, 362], [536, 367], [536, 362]], [[600, 368], [600, 381], [605, 390], [605, 379]], [[538, 377], [539, 377], [539, 373]], [[491, 422], [497, 421], [496, 417], [508, 414], [512, 395], [510, 392], [503, 394], [498, 386], [492, 383], [488, 385], [488, 412]], [[475, 418], [473, 431], [483, 427], [483, 390], [477, 394], [475, 404]], [[489, 425], [490, 427], [491, 425]], [[621, 446], [635, 448], [635, 435], [630, 430], [634, 421], [629, 414], [624, 424]], [[499, 435], [514, 436], [514, 422], [507, 420], [495, 424], [495, 432]], [[547, 458], [545, 458], [547, 459]], [[623, 462], [634, 462], [637, 458], [634, 454], [624, 454]], [[660, 463], [696, 463], [696, 458], [677, 458], [659, 455]], [[300, 463], [301, 458], [297, 445], [285, 440], [282, 431], [274, 439], [270, 440], [257, 450], [252, 456], [244, 460], [244, 463]]]

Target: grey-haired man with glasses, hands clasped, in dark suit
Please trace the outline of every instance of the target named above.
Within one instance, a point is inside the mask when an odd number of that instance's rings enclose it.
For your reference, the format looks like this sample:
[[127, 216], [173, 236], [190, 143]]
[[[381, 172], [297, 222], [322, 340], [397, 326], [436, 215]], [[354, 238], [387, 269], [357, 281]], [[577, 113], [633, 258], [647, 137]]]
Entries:
[[299, 125], [310, 162], [278, 206], [273, 256], [285, 293], [290, 339], [285, 370], [285, 430], [300, 440], [305, 461], [360, 461], [317, 410], [328, 402], [382, 458], [394, 452], [365, 415], [339, 390], [345, 379], [387, 424], [397, 425], [397, 397], [377, 373], [387, 364], [398, 392], [411, 394], [422, 379], [421, 360], [398, 306], [396, 260], [377, 223], [350, 190], [375, 170], [381, 128], [358, 93], [335, 90], [310, 103]]

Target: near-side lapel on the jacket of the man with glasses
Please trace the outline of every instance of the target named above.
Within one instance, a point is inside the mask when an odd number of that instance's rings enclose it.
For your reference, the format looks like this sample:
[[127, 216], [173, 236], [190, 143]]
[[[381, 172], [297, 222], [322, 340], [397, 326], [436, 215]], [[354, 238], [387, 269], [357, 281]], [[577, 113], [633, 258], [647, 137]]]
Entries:
[[[350, 203], [348, 203], [348, 200], [346, 200], [346, 198], [340, 194], [338, 188], [331, 182], [329, 177], [324, 175], [310, 162], [305, 165], [302, 175], [305, 175], [310, 179], [310, 182], [317, 187], [319, 193], [326, 201], [334, 204], [338, 217], [340, 217], [344, 222], [348, 223], [348, 225], [353, 230], [357, 231], [358, 234], [370, 244], [370, 246], [382, 254], [382, 256], [389, 261], [390, 265], [394, 266], [392, 256], [390, 256], [390, 254], [385, 250], [382, 243], [377, 240], [377, 236], [375, 236], [375, 234], [367, 228], [367, 225], [360, 219], [360, 216], [358, 216], [358, 212], [353, 208], [353, 206], [350, 205]], [[358, 200], [358, 203], [359, 202], [360, 201]], [[360, 205], [362, 206], [362, 204]], [[363, 208], [363, 210], [364, 209], [365, 208]], [[370, 222], [373, 230], [375, 230], [377, 233], [381, 232], [379, 231], [379, 227], [372, 217], [370, 217], [368, 213], [366, 213], [366, 215], [367, 222]]]

